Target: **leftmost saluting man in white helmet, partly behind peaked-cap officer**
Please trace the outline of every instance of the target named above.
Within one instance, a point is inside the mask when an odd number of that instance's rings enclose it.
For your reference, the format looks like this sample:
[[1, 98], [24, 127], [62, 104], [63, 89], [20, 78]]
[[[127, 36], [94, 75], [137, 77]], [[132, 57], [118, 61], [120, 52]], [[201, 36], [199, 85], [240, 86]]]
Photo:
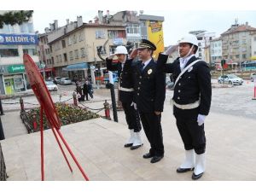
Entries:
[[[118, 57], [119, 62], [113, 64], [113, 55]], [[137, 149], [143, 145], [141, 139], [142, 126], [139, 113], [134, 102], [134, 88], [131, 79], [131, 59], [127, 58], [128, 52], [125, 46], [118, 46], [113, 55], [106, 59], [107, 69], [109, 71], [118, 71], [119, 73], [119, 100], [125, 111], [125, 118], [130, 130], [130, 138], [125, 143], [125, 148], [131, 147], [131, 150]]]

